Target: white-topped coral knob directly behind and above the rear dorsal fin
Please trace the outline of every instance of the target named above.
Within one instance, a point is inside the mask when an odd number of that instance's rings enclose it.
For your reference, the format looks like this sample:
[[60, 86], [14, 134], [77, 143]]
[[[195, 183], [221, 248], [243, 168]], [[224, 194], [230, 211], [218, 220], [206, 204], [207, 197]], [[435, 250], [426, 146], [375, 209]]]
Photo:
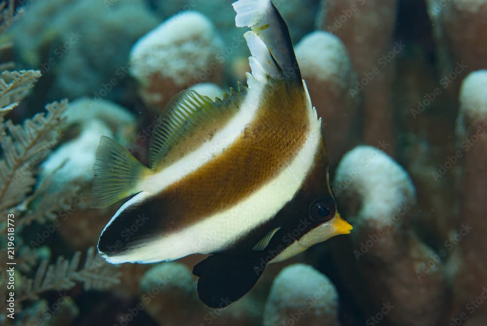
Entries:
[[197, 82], [219, 83], [223, 41], [202, 14], [184, 12], [139, 39], [130, 56], [131, 75], [146, 105], [162, 109], [179, 91]]

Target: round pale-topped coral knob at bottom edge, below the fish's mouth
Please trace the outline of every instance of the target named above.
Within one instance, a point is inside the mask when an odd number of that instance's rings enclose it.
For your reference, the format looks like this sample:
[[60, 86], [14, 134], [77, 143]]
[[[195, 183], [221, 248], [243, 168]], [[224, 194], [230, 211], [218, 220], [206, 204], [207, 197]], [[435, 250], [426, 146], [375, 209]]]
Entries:
[[337, 290], [311, 266], [296, 264], [283, 268], [272, 284], [263, 325], [337, 326]]

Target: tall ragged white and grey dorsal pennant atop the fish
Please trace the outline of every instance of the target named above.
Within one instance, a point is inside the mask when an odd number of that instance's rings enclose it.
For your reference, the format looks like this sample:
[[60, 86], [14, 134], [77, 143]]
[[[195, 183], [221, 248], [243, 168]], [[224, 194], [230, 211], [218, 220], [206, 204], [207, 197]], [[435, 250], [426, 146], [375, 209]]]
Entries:
[[232, 5], [237, 13], [235, 24], [252, 29], [244, 35], [252, 53], [252, 75], [260, 79], [263, 72], [302, 84], [289, 30], [274, 4], [270, 0], [239, 0]]

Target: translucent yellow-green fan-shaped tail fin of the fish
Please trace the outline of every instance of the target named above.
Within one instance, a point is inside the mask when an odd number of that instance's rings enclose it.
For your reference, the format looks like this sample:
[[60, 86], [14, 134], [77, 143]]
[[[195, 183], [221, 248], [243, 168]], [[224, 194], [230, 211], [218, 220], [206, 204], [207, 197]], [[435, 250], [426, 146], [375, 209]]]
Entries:
[[110, 137], [102, 136], [93, 165], [92, 208], [112, 205], [131, 194], [144, 170], [148, 170], [125, 148]]

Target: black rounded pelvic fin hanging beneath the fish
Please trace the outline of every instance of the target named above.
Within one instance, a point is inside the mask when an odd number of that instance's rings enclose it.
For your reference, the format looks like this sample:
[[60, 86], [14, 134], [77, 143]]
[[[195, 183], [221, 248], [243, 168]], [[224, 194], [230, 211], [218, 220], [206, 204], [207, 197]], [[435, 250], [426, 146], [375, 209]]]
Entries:
[[208, 307], [224, 308], [242, 298], [265, 268], [257, 259], [211, 255], [193, 268], [198, 296]]

